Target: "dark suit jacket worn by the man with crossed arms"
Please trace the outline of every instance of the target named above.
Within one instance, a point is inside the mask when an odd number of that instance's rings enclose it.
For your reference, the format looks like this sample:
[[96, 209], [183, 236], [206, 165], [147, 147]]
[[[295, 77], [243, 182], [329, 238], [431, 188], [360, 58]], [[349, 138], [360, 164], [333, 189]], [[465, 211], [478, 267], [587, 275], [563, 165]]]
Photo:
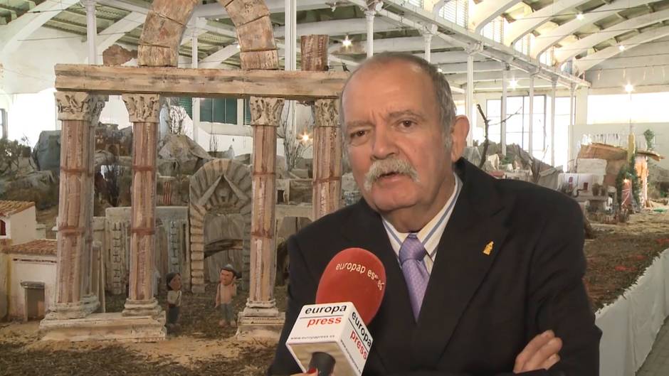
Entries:
[[[386, 268], [386, 293], [369, 324], [365, 376], [495, 375], [552, 329], [561, 360], [536, 375], [598, 375], [599, 338], [582, 277], [583, 216], [562, 193], [496, 180], [463, 159], [463, 188], [438, 245], [418, 322], [381, 217], [364, 200], [320, 218], [288, 240], [288, 312], [270, 375], [300, 368], [285, 347], [300, 308], [314, 304], [334, 254], [362, 247]], [[483, 254], [489, 242], [491, 254]], [[562, 373], [564, 372], [564, 373]]]

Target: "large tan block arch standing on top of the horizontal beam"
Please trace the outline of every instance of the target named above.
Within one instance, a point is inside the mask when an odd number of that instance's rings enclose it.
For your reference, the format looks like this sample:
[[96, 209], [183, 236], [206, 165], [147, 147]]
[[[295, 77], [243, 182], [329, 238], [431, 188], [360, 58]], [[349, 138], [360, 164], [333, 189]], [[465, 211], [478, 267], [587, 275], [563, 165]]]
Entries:
[[[176, 67], [179, 43], [199, 0], [154, 0], [139, 37], [140, 66]], [[279, 59], [265, 0], [218, 0], [237, 28], [242, 69], [278, 69]]]

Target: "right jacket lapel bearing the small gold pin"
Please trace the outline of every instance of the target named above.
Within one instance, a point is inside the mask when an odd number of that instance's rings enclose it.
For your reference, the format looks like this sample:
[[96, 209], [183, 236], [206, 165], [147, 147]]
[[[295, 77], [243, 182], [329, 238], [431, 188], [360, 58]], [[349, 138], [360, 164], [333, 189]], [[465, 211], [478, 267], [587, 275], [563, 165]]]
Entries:
[[[464, 186], [439, 242], [411, 343], [412, 366], [418, 369], [438, 363], [507, 235], [507, 210], [492, 178], [466, 161], [456, 166]], [[490, 242], [492, 252], [484, 254]]]

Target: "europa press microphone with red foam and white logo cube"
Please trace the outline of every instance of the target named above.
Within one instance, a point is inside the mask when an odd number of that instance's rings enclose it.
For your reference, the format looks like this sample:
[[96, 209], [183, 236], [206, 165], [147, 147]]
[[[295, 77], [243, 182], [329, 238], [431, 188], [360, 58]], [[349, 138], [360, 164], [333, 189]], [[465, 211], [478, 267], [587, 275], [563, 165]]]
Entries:
[[367, 324], [379, 311], [386, 270], [372, 252], [347, 248], [325, 267], [316, 304], [302, 307], [286, 346], [302, 372], [360, 376], [372, 346]]

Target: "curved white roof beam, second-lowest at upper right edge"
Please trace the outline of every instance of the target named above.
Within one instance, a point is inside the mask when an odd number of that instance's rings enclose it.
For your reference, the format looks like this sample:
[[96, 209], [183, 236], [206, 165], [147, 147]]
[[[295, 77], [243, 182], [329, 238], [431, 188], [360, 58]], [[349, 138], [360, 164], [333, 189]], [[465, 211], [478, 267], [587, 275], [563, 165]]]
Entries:
[[591, 34], [583, 39], [579, 39], [579, 41], [564, 45], [562, 48], [554, 50], [555, 60], [557, 60], [558, 64], [562, 64], [574, 56], [579, 55], [579, 53], [583, 53], [594, 45], [604, 42], [609, 38], [627, 33], [633, 28], [641, 28], [666, 19], [669, 19], [669, 9], [651, 14], [644, 14], [643, 16], [630, 18], [627, 21], [616, 23], [610, 28], [605, 28], [598, 33]]

